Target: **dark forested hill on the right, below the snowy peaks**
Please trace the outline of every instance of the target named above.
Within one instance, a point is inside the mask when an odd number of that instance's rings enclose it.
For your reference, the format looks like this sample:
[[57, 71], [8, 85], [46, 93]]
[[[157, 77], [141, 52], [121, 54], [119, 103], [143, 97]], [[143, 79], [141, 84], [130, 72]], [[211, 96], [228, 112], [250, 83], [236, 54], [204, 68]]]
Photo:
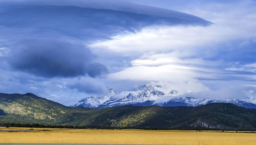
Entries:
[[[256, 119], [252, 111], [229, 103], [212, 103], [198, 107], [116, 106], [109, 109], [111, 111], [97, 117], [96, 122], [100, 122], [102, 126], [134, 128], [252, 129]], [[127, 109], [129, 112], [123, 113]], [[102, 116], [106, 114], [108, 119], [102, 120]]]

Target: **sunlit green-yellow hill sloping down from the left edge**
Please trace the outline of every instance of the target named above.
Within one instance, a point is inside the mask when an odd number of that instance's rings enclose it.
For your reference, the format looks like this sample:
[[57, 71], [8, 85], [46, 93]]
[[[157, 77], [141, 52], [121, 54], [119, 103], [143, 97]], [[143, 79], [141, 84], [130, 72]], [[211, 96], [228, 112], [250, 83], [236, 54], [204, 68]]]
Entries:
[[[1, 111], [2, 110], [2, 111]], [[34, 94], [0, 93], [0, 123], [56, 123], [88, 108], [67, 107]], [[2, 115], [1, 115], [2, 114]], [[70, 119], [67, 119], [70, 120]]]

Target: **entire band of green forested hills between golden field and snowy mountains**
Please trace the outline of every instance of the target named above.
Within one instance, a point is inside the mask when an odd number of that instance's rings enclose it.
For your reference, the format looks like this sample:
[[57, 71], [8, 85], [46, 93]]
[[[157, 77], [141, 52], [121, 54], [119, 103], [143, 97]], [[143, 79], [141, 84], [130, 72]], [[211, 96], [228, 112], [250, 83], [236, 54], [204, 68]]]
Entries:
[[[2, 112], [1, 112], [2, 110]], [[256, 112], [230, 103], [197, 107], [67, 107], [33, 94], [0, 94], [0, 124], [84, 127], [256, 130]]]

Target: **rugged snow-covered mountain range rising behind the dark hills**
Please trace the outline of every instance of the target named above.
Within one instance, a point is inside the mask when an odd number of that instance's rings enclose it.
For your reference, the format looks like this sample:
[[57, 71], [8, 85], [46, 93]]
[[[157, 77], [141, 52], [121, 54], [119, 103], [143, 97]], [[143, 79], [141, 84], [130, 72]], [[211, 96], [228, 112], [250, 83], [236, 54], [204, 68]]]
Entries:
[[159, 91], [160, 89], [161, 85], [157, 85], [153, 82], [137, 86], [133, 91], [123, 91], [121, 93], [116, 93], [113, 89], [109, 89], [109, 94], [106, 96], [90, 96], [83, 98], [72, 106], [102, 108], [118, 105], [200, 106], [209, 103], [232, 103], [244, 108], [256, 108], [256, 104], [238, 99], [177, 97], [179, 93], [177, 90], [172, 90], [168, 94], [165, 94]]

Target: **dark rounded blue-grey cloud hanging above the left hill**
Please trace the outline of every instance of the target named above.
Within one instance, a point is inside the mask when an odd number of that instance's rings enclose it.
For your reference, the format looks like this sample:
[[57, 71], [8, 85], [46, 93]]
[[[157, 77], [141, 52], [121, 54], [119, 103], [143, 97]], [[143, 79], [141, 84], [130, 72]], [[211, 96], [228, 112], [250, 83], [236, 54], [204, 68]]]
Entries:
[[11, 47], [7, 62], [15, 69], [44, 77], [96, 77], [108, 72], [80, 44], [58, 39], [29, 39]]

